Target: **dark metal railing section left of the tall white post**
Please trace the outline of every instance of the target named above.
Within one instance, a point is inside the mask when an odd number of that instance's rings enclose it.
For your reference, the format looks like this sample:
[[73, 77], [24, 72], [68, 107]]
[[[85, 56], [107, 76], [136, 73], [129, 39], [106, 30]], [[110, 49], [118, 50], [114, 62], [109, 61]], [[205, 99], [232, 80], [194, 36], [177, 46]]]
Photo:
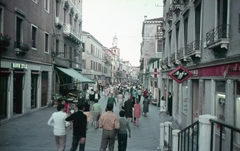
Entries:
[[178, 133], [178, 151], [198, 151], [199, 121]]

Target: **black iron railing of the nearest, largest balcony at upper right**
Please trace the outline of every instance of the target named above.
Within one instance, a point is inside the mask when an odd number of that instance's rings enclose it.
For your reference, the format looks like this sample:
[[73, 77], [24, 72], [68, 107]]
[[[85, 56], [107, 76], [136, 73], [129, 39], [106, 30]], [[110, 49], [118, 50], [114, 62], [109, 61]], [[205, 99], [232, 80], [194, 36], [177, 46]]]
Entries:
[[229, 38], [229, 25], [220, 25], [206, 34], [207, 46], [217, 42], [219, 39]]

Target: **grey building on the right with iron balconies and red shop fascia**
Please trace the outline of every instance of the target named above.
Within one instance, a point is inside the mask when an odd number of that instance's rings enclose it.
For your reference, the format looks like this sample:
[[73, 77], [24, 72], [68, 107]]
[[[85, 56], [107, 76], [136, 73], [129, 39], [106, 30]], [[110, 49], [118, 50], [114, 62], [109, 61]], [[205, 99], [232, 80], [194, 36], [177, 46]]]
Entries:
[[[181, 128], [202, 114], [240, 127], [239, 8], [240, 1], [236, 0], [164, 1], [164, 51], [159, 79], [162, 95], [167, 98], [167, 93], [172, 92], [173, 120]], [[179, 66], [193, 74], [182, 83], [168, 76]], [[216, 140], [219, 127], [217, 130]], [[224, 135], [230, 137], [230, 132]], [[228, 150], [228, 144], [223, 142], [223, 150]], [[234, 144], [234, 150], [239, 150], [239, 134], [234, 136]]]

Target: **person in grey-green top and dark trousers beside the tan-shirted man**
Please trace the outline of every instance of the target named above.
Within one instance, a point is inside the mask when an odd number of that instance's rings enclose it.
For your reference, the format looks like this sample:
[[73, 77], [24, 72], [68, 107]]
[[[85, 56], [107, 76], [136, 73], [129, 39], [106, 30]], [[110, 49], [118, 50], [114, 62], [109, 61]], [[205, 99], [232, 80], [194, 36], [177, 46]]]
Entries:
[[131, 128], [129, 125], [129, 121], [126, 120], [125, 111], [120, 110], [119, 112], [119, 124], [120, 128], [117, 131], [117, 137], [118, 140], [118, 151], [126, 151], [127, 149], [127, 138], [131, 138]]

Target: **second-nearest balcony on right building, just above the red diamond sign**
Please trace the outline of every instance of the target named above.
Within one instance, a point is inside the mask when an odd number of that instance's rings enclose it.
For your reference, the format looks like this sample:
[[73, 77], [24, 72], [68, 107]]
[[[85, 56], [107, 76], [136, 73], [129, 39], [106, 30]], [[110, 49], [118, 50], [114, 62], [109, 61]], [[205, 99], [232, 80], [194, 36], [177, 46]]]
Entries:
[[186, 55], [187, 56], [194, 56], [194, 57], [201, 57], [201, 41], [193, 41], [189, 43], [186, 47]]

